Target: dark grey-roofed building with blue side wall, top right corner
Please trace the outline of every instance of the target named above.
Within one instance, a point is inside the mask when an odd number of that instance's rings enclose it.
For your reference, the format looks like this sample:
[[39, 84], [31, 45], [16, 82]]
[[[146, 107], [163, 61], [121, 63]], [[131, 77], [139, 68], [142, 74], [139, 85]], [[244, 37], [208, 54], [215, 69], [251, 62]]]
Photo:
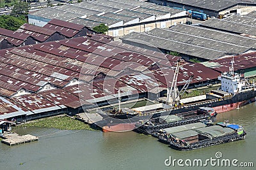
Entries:
[[222, 18], [225, 14], [228, 13], [237, 13], [244, 15], [253, 10], [256, 10], [255, 1], [244, 0], [148, 0], [148, 2], [181, 9], [184, 8], [186, 10], [198, 11], [209, 15], [209, 17], [216, 18]]

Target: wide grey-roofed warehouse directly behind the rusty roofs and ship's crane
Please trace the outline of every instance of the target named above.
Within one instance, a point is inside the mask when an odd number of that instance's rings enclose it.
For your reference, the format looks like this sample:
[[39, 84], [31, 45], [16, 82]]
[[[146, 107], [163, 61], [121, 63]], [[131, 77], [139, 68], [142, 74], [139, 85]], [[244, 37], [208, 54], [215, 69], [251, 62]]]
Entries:
[[157, 47], [164, 53], [178, 52], [184, 59], [197, 58], [202, 61], [256, 50], [256, 39], [185, 24], [170, 29], [132, 32], [123, 36], [122, 41], [149, 50]]

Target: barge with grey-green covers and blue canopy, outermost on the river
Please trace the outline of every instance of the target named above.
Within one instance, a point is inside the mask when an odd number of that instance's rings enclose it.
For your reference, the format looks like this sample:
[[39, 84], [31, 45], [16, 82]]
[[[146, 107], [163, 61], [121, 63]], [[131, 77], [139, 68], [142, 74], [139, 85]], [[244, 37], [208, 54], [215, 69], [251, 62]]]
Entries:
[[160, 142], [175, 150], [195, 150], [245, 139], [243, 126], [220, 122], [216, 125], [202, 123], [161, 129], [153, 134]]

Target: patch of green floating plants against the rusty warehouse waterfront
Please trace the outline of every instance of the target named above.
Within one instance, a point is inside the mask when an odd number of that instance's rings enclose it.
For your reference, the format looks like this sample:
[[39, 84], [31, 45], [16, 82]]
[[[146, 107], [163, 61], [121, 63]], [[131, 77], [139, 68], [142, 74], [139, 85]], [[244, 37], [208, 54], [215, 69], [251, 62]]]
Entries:
[[21, 127], [47, 127], [61, 130], [90, 130], [95, 131], [90, 125], [84, 124], [79, 120], [74, 120], [69, 117], [50, 117], [36, 120], [36, 122], [28, 122]]

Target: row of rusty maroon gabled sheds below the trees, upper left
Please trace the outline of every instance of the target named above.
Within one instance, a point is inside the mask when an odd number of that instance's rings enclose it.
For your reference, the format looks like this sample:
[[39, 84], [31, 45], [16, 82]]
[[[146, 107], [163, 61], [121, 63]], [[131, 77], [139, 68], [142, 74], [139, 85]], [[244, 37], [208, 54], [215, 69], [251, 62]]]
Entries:
[[95, 34], [84, 25], [53, 19], [44, 27], [32, 24], [21, 25], [17, 31], [0, 28], [0, 50], [17, 46], [32, 45], [60, 39]]

